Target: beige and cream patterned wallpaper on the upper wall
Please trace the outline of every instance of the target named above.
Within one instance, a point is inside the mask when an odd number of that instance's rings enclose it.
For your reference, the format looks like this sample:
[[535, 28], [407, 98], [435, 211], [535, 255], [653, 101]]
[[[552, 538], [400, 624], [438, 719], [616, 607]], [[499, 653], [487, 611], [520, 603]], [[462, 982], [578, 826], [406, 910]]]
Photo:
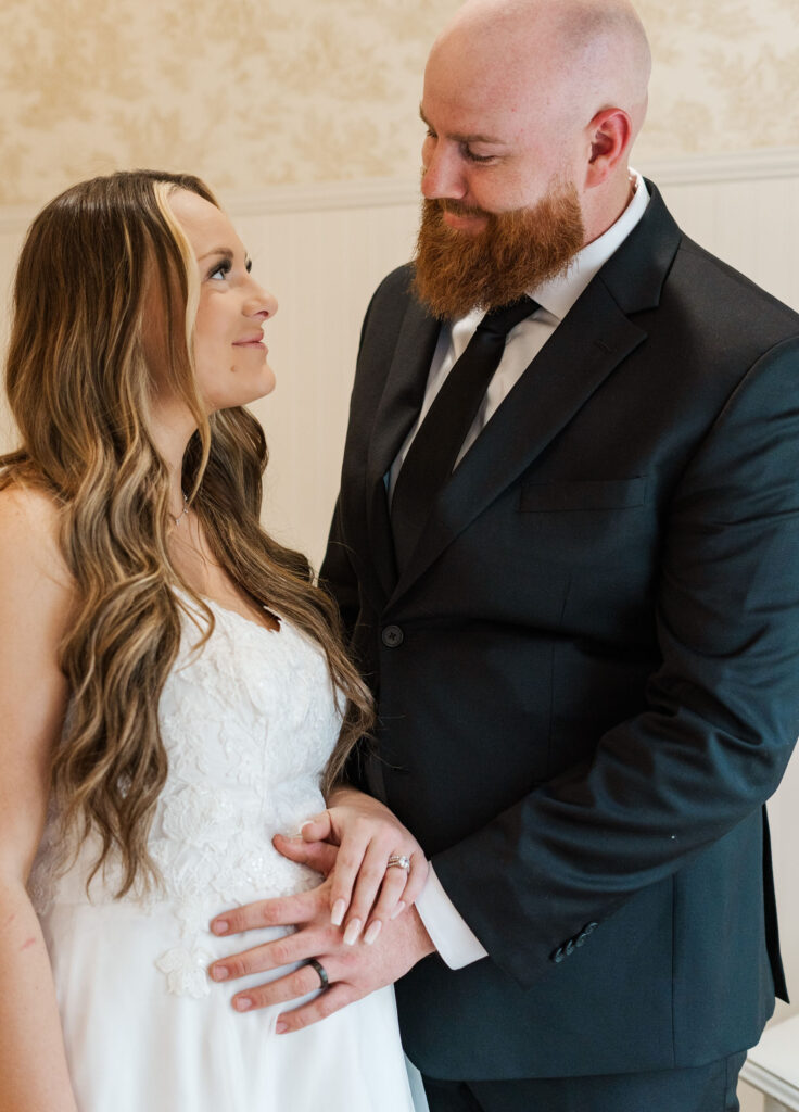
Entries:
[[[0, 203], [116, 167], [224, 196], [416, 173], [430, 41], [458, 0], [6, 0]], [[799, 145], [797, 0], [639, 0], [649, 157]]]

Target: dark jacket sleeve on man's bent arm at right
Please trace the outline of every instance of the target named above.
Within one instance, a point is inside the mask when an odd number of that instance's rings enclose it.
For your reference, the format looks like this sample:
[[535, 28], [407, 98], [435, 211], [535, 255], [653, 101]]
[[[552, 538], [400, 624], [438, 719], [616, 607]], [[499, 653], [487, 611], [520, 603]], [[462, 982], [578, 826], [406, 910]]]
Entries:
[[799, 732], [799, 340], [750, 368], [683, 471], [657, 606], [646, 711], [433, 857], [522, 985], [759, 808], [785, 772]]

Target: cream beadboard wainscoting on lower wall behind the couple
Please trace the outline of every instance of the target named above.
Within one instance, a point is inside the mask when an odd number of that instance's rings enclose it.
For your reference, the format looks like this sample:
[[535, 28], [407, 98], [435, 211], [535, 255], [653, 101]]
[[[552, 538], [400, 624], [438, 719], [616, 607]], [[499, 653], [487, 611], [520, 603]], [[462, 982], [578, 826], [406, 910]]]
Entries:
[[[799, 147], [637, 165], [659, 185], [688, 235], [799, 309]], [[412, 179], [287, 186], [222, 201], [254, 272], [280, 302], [267, 326], [278, 387], [254, 407], [271, 453], [264, 519], [318, 566], [338, 489], [363, 310], [380, 278], [412, 250], [417, 186]], [[3, 296], [33, 211], [0, 208]], [[3, 312], [2, 345], [7, 329]], [[0, 447], [11, 443], [0, 407]], [[799, 885], [791, 861], [799, 844], [798, 766], [799, 758], [770, 812], [783, 951], [799, 1000]], [[781, 1006], [778, 1019], [793, 1011]], [[741, 1100], [743, 1112], [762, 1109], [762, 1098], [743, 1084]]]

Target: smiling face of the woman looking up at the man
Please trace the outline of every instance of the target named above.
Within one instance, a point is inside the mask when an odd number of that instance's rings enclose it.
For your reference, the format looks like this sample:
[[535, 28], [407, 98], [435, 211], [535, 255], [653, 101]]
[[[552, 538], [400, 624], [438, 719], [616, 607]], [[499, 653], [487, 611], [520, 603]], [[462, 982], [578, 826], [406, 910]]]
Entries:
[[228, 217], [186, 189], [170, 207], [191, 244], [200, 276], [194, 364], [209, 413], [246, 405], [274, 388], [263, 325], [278, 302], [250, 275], [250, 260]]

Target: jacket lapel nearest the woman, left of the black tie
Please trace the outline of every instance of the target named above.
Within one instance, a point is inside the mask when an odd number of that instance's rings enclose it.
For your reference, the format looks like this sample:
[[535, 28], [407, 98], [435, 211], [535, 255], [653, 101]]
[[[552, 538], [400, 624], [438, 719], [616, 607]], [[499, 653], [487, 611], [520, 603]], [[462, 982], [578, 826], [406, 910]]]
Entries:
[[369, 443], [367, 524], [371, 557], [387, 598], [397, 585], [397, 566], [384, 476], [421, 409], [439, 330], [439, 321], [430, 317], [415, 298], [410, 299]]

